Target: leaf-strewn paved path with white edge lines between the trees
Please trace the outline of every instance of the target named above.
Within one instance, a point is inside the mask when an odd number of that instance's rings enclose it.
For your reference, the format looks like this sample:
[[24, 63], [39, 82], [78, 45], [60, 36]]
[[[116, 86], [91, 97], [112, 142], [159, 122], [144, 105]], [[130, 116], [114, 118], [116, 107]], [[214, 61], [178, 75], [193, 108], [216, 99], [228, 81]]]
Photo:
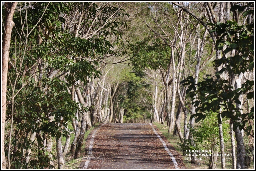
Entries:
[[[154, 126], [115, 123], [101, 126], [87, 140], [84, 169], [184, 169], [182, 156]], [[89, 137], [89, 138], [90, 138]], [[164, 148], [165, 146], [165, 148]]]

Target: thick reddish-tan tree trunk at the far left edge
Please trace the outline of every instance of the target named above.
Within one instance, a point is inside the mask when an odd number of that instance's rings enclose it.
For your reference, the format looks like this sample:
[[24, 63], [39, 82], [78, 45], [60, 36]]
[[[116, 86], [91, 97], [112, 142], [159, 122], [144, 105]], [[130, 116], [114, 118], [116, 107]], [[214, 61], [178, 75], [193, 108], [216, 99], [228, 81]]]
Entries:
[[7, 92], [7, 74], [10, 53], [10, 43], [12, 29], [15, 25], [13, 14], [17, 2], [5, 2], [5, 25], [2, 40], [2, 168], [6, 168], [5, 160], [5, 119], [6, 119], [6, 92]]

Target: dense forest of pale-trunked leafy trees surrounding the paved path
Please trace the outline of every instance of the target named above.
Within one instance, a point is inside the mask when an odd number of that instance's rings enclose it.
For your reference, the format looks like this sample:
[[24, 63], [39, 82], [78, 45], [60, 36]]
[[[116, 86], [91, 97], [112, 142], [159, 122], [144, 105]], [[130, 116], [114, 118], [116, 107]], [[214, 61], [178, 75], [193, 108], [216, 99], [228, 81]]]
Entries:
[[254, 77], [254, 2], [2, 3], [2, 168], [61, 169], [99, 122], [159, 122], [246, 169]]

